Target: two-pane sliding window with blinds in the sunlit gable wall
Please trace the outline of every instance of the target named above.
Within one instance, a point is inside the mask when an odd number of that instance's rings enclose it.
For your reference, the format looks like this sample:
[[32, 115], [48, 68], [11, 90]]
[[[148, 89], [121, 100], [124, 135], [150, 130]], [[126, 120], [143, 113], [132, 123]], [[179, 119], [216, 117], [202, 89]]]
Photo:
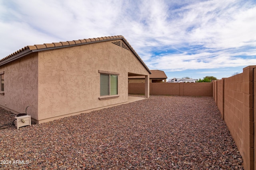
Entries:
[[100, 74], [100, 96], [118, 94], [118, 75]]

